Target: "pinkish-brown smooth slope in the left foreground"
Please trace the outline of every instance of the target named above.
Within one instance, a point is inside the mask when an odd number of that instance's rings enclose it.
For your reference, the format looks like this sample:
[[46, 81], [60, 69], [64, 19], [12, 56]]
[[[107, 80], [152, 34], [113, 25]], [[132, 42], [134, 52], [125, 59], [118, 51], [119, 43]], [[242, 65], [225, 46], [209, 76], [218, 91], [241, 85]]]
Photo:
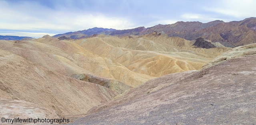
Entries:
[[0, 49], [0, 98], [24, 100], [58, 116], [86, 113], [112, 100], [116, 92], [70, 78]]

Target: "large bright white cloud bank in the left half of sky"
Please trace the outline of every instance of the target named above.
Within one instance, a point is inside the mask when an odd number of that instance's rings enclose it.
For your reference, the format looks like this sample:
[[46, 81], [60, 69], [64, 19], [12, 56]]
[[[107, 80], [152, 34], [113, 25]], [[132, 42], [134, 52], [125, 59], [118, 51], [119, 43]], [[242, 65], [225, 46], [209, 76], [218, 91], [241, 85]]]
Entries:
[[92, 27], [115, 29], [136, 27], [133, 23], [130, 23], [130, 20], [125, 18], [75, 12], [70, 9], [52, 10], [36, 2], [9, 4], [8, 2], [0, 1], [0, 15], [0, 29], [63, 33]]

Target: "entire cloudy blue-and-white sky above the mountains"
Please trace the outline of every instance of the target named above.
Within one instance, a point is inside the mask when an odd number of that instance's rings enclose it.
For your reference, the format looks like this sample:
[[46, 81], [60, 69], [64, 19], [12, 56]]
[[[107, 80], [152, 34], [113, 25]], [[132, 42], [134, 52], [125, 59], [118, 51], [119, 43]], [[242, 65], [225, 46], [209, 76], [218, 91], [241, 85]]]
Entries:
[[0, 0], [0, 35], [39, 38], [93, 27], [256, 17], [256, 0]]

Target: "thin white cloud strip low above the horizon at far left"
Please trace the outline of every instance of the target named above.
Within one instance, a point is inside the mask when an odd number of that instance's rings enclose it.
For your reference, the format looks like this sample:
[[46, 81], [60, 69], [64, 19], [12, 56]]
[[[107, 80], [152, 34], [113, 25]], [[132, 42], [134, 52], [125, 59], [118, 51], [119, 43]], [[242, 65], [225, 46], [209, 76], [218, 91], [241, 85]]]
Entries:
[[[56, 33], [57, 34], [57, 33]], [[40, 38], [44, 35], [56, 35], [52, 33], [30, 33], [30, 32], [12, 32], [12, 33], [0, 33], [0, 35], [14, 35], [14, 36], [24, 36], [24, 37], [34, 37], [34, 38]]]

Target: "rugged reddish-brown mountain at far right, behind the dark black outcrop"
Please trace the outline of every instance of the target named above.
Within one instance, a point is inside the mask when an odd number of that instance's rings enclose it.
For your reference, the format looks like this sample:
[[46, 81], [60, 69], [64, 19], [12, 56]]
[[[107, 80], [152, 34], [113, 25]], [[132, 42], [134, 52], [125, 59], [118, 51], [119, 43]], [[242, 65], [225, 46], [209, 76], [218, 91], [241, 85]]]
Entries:
[[213, 42], [218, 41], [226, 47], [256, 43], [256, 18], [219, 23], [193, 32], [191, 36], [190, 39], [200, 36]]

